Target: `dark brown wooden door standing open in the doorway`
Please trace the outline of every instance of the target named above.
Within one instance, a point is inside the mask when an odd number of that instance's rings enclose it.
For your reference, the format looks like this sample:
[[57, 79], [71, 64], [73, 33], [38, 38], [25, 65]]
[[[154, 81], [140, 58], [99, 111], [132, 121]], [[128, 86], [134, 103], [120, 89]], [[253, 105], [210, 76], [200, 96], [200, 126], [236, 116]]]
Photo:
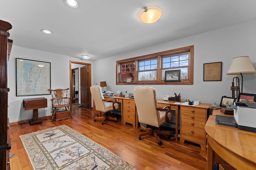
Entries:
[[81, 105], [82, 107], [89, 108], [89, 76], [88, 76], [88, 68], [86, 65], [80, 68], [80, 82], [81, 82]]

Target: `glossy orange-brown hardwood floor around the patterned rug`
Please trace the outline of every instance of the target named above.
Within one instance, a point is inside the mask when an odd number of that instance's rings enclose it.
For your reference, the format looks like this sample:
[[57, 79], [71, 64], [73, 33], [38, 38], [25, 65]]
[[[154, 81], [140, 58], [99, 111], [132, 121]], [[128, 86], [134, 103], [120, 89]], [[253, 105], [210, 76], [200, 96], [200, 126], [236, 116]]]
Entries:
[[96, 143], [102, 145], [114, 154], [120, 156], [130, 164], [134, 170], [205, 170], [206, 151], [191, 143], [180, 143], [175, 139], [160, 136], [163, 143], [159, 146], [153, 136], [138, 139], [140, 129], [132, 125], [122, 125], [119, 120], [106, 121], [104, 125], [100, 121], [94, 122], [91, 109], [72, 106], [72, 119], [62, 121], [43, 120], [43, 123], [29, 125], [22, 123], [10, 126], [12, 148], [10, 158], [12, 170], [32, 170], [30, 160], [26, 154], [20, 135], [39, 130], [67, 125], [82, 133]]

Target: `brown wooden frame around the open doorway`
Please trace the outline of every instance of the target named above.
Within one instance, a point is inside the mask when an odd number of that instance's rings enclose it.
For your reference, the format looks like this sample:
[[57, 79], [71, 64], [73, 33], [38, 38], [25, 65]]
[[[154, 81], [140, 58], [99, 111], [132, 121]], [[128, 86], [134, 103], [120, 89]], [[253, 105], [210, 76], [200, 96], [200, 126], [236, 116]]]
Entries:
[[[83, 62], [79, 62], [79, 61], [69, 61], [69, 78], [70, 78], [70, 89], [72, 88], [72, 63], [74, 63], [74, 64], [83, 64], [83, 65], [88, 65], [89, 66], [89, 69], [88, 69], [88, 71], [89, 71], [89, 75], [88, 75], [88, 81], [89, 81], [89, 86], [92, 86], [92, 64], [90, 64], [90, 63], [83, 63]], [[73, 94], [72, 94], [72, 90], [70, 90], [70, 98], [73, 98], [74, 96], [73, 96]], [[90, 90], [89, 90], [89, 96], [88, 96], [88, 98], [89, 98], [89, 108], [92, 108], [92, 95], [91, 95], [91, 92], [90, 92]], [[72, 103], [72, 101], [71, 101], [71, 103]], [[71, 105], [72, 106], [72, 105]]]

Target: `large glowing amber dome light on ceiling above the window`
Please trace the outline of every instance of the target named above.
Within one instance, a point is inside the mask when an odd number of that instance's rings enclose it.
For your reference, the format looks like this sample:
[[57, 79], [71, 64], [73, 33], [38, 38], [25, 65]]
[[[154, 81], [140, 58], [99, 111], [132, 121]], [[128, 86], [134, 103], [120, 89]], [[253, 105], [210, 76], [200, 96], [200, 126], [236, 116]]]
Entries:
[[140, 16], [144, 23], [154, 23], [160, 19], [162, 11], [156, 7], [146, 8]]

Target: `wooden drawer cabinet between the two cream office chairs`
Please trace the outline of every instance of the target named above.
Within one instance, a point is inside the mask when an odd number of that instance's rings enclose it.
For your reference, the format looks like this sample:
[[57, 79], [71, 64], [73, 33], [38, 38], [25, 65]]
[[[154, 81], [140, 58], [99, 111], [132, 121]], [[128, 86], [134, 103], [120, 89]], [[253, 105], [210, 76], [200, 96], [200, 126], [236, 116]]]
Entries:
[[138, 127], [138, 119], [136, 118], [135, 101], [130, 99], [123, 100], [123, 124], [130, 123], [132, 127]]

